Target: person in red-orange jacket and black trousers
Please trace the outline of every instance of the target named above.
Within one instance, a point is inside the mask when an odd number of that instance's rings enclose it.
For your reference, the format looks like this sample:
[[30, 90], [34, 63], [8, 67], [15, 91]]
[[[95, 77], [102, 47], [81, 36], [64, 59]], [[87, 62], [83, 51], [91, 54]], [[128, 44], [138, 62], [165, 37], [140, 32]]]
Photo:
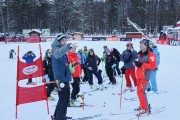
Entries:
[[76, 48], [71, 48], [71, 50], [67, 53], [68, 61], [69, 63], [73, 66], [73, 71], [72, 73], [72, 78], [73, 78], [73, 83], [72, 85], [72, 93], [71, 93], [71, 101], [76, 100], [76, 95], [80, 91], [80, 77], [81, 77], [81, 64], [78, 58], [78, 55], [76, 53]]

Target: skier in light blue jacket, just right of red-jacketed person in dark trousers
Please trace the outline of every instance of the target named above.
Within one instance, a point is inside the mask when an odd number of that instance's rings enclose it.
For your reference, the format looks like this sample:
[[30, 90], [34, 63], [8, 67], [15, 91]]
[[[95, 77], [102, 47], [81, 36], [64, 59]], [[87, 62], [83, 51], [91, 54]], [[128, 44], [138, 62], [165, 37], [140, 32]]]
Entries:
[[82, 52], [82, 49], [80, 49], [77, 53], [78, 58], [80, 60], [80, 64], [81, 64], [81, 69], [84, 72], [84, 77], [83, 77], [83, 82], [88, 81], [88, 73], [87, 73], [87, 68], [85, 67], [84, 63], [86, 61], [86, 55]]

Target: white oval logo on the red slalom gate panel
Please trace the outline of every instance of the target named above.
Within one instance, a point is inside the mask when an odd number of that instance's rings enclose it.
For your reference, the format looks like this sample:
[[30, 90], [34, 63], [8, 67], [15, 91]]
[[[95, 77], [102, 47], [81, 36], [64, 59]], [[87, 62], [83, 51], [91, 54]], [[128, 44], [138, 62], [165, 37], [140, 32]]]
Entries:
[[30, 66], [25, 67], [25, 68], [23, 69], [23, 73], [24, 73], [25, 75], [30, 75], [30, 74], [35, 73], [37, 70], [38, 70], [38, 67], [37, 67], [36, 65], [30, 65]]

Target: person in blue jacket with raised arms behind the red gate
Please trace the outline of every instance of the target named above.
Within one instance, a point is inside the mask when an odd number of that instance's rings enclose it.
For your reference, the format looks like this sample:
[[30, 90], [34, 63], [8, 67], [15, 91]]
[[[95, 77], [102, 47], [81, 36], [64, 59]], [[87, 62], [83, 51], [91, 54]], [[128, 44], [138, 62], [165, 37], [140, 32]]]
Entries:
[[[33, 63], [33, 60], [36, 58], [36, 55], [33, 53], [33, 51], [28, 51], [26, 54], [24, 54], [24, 56], [22, 57], [22, 59], [24, 59], [26, 61], [26, 63], [31, 64]], [[27, 85], [35, 85], [35, 82], [32, 82], [32, 78], [28, 79]]]

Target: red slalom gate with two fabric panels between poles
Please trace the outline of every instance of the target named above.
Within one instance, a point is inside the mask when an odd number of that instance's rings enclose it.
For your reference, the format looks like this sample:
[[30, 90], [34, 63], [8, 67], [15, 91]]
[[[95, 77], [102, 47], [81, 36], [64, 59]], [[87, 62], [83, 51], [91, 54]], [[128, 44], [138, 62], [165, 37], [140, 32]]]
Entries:
[[49, 106], [47, 101], [46, 85], [35, 87], [20, 87], [19, 81], [27, 80], [28, 78], [37, 78], [44, 76], [42, 52], [39, 45], [40, 57], [31, 64], [24, 63], [19, 59], [19, 46], [17, 55], [17, 80], [16, 80], [16, 119], [18, 117], [18, 105], [32, 103], [37, 101], [46, 101], [47, 111], [49, 114]]

